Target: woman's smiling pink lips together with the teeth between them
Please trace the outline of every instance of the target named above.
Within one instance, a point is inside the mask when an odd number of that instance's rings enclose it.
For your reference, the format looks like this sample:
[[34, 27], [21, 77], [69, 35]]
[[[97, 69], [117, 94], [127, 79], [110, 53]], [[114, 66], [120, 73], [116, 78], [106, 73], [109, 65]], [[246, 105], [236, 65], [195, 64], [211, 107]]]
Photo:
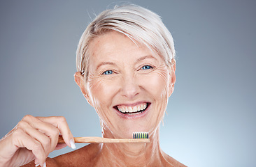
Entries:
[[115, 111], [118, 112], [119, 116], [122, 116], [123, 118], [137, 118], [144, 116], [146, 111], [148, 111], [148, 108], [150, 106], [149, 102], [141, 102], [136, 105], [131, 104], [122, 104], [114, 106], [113, 108]]

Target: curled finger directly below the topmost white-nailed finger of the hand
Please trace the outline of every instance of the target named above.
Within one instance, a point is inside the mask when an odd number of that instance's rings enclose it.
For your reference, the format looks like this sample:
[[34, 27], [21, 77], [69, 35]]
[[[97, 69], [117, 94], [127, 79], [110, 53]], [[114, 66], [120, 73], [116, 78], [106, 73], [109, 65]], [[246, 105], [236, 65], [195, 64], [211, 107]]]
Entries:
[[[38, 132], [45, 134], [50, 138], [50, 150], [55, 150], [55, 146], [57, 145], [57, 141], [59, 138], [59, 130], [57, 127], [50, 125], [48, 122], [43, 122], [34, 116], [24, 116], [22, 121], [27, 122], [31, 127], [38, 129]], [[21, 122], [22, 122], [21, 121]], [[33, 131], [34, 132], [34, 131]], [[37, 133], [36, 133], [37, 134]], [[34, 136], [36, 138], [36, 136]]]

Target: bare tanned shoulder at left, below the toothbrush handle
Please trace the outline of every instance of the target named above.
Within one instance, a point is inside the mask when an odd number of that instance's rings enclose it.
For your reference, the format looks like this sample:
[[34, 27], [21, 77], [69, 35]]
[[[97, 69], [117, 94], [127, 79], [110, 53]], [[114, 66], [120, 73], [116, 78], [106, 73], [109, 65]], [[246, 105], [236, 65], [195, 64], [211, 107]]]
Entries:
[[[47, 167], [70, 167], [70, 166], [93, 166], [96, 157], [99, 152], [99, 145], [90, 144], [83, 148], [75, 150], [73, 152], [68, 152], [66, 154], [59, 155], [55, 158], [47, 158]], [[34, 167], [34, 161], [29, 162], [22, 167]]]

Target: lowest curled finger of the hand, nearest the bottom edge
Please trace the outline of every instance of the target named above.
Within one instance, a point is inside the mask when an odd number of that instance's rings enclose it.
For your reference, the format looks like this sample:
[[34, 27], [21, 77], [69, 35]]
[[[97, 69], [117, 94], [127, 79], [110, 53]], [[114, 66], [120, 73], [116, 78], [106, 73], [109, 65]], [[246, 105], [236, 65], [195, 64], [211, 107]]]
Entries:
[[13, 144], [17, 148], [27, 148], [27, 150], [31, 150], [36, 159], [38, 159], [39, 164], [43, 166], [43, 163], [45, 162], [47, 155], [45, 154], [43, 146], [40, 142], [36, 141], [36, 139], [24, 133], [24, 131], [20, 128], [17, 128], [13, 132], [12, 138]]

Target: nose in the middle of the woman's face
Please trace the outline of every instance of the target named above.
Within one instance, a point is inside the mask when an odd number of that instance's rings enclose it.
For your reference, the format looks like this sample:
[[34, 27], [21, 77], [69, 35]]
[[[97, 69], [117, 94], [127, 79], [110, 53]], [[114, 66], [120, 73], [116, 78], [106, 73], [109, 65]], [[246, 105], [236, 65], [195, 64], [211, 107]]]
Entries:
[[127, 97], [128, 99], [134, 99], [136, 95], [140, 93], [140, 87], [134, 77], [126, 77], [122, 81], [122, 96]]

